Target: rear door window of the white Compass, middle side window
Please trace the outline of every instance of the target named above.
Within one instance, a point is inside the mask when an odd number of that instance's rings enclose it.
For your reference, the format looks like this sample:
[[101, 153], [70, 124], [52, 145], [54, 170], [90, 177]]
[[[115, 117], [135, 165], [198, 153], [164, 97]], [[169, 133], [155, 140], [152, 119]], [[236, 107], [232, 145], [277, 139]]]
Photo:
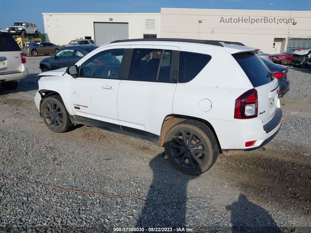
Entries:
[[134, 49], [128, 79], [170, 82], [171, 50]]

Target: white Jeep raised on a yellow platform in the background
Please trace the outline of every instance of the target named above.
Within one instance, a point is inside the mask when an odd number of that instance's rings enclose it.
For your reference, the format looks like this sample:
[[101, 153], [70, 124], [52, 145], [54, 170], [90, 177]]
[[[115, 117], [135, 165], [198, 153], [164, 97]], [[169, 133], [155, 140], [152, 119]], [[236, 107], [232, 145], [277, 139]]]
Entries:
[[33, 35], [35, 38], [39, 38], [39, 30], [35, 23], [27, 22], [14, 22], [12, 27], [6, 28], [11, 35], [21, 35], [25, 38], [27, 35]]

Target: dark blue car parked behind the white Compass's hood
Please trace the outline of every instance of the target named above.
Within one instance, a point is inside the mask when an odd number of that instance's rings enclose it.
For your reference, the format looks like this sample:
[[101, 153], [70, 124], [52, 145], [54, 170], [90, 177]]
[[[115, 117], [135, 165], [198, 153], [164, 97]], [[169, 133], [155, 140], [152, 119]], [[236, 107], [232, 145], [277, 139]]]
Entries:
[[97, 48], [98, 46], [95, 45], [74, 45], [59, 49], [51, 57], [42, 59], [40, 69], [45, 72], [74, 65], [86, 54]]

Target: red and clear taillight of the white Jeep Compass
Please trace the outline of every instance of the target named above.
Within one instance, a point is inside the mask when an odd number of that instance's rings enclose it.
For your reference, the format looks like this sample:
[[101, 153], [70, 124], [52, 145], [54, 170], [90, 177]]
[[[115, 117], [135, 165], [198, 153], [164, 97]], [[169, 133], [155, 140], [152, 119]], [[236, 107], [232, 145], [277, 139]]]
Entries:
[[249, 119], [258, 115], [258, 94], [255, 88], [244, 92], [235, 100], [234, 118]]

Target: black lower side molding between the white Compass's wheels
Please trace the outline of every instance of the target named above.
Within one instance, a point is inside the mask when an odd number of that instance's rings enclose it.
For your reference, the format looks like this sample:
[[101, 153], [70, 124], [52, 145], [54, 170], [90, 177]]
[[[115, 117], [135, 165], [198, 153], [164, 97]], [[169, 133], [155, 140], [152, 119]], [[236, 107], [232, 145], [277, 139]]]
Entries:
[[154, 133], [149, 133], [144, 130], [134, 129], [127, 126], [120, 126], [114, 123], [108, 123], [100, 120], [95, 120], [87, 117], [82, 117], [78, 115], [70, 115], [70, 119], [72, 123], [75, 124], [84, 124], [93, 126], [96, 128], [101, 128], [104, 130], [108, 130], [114, 133], [120, 133], [131, 137], [136, 137], [142, 140], [150, 141], [155, 143], [157, 146], [160, 144], [160, 136]]

